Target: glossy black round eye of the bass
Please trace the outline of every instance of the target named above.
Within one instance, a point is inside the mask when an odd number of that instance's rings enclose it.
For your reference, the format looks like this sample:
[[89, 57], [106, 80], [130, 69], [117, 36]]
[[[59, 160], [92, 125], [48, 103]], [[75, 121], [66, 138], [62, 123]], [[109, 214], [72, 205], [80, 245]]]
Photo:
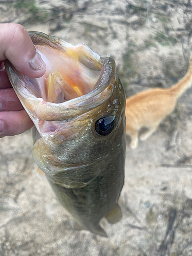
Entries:
[[115, 125], [114, 120], [115, 120], [114, 116], [100, 118], [95, 123], [95, 131], [101, 136], [110, 134], [114, 129], [114, 125]]

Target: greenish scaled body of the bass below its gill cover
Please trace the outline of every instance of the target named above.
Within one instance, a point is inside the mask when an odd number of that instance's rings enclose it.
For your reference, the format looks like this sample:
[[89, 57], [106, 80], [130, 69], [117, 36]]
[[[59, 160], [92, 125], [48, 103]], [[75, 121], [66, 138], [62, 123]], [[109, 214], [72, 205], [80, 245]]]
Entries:
[[[123, 151], [123, 147], [122, 147]], [[59, 202], [84, 229], [101, 234], [99, 221], [108, 215], [117, 204], [124, 183], [124, 154], [116, 154], [106, 170], [88, 185], [66, 188], [53, 183], [49, 178]], [[104, 234], [101, 234], [104, 236]]]

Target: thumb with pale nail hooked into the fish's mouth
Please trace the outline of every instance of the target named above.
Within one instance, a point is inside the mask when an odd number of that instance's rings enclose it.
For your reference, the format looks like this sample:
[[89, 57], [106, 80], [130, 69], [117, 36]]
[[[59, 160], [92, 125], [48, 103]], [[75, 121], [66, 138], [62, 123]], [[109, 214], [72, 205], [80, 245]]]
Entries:
[[45, 62], [23, 26], [1, 24], [0, 46], [0, 60], [8, 59], [20, 73], [33, 78], [45, 74]]

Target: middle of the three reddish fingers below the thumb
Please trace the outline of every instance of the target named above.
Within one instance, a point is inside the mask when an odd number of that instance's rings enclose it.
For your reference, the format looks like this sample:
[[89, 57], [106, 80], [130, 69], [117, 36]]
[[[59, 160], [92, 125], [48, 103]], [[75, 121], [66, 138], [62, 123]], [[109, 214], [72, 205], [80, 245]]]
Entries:
[[13, 88], [0, 90], [0, 111], [20, 111], [23, 109]]

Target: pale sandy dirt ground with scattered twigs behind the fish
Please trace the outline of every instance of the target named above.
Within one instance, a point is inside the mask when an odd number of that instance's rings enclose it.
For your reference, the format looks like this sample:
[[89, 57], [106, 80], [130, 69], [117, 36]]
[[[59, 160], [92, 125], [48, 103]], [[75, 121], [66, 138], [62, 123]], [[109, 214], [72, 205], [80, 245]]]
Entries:
[[[0, 1], [2, 23], [17, 22], [73, 45], [84, 42], [100, 56], [113, 57], [127, 97], [170, 87], [186, 72], [190, 1], [50, 0], [39, 1], [33, 15], [15, 6], [20, 2]], [[38, 16], [42, 10], [44, 20]], [[101, 221], [109, 238], [74, 229], [47, 180], [36, 175], [30, 131], [0, 139], [0, 255], [191, 256], [191, 98], [188, 89], [137, 150], [126, 138], [123, 217], [114, 225]]]

